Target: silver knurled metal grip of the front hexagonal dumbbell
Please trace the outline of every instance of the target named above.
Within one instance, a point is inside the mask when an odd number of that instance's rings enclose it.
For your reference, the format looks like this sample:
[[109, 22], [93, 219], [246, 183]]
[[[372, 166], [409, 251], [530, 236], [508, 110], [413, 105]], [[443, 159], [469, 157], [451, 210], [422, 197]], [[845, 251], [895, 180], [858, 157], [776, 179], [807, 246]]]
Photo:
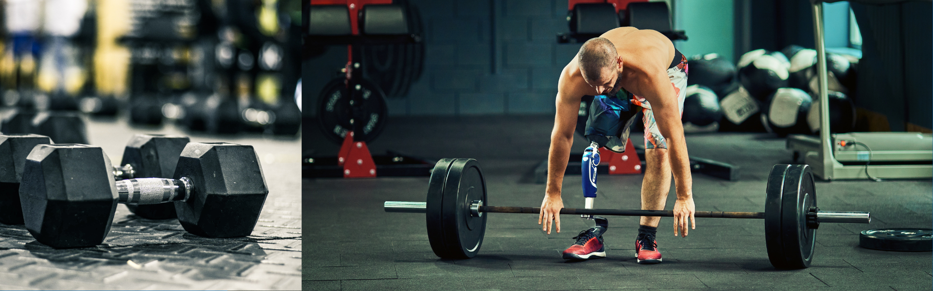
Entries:
[[187, 177], [178, 180], [140, 178], [117, 181], [119, 202], [124, 204], [158, 204], [186, 201], [191, 183]]

